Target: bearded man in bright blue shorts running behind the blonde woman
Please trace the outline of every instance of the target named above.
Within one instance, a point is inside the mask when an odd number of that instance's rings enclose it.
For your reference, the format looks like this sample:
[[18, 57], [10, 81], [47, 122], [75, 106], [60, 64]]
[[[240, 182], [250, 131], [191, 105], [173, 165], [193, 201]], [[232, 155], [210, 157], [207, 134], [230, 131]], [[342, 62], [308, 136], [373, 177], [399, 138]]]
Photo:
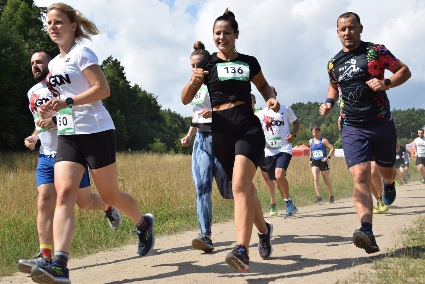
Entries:
[[[54, 186], [54, 163], [57, 148], [56, 116], [43, 119], [38, 106], [53, 97], [48, 90], [44, 79], [49, 73], [48, 63], [54, 56], [46, 50], [36, 50], [31, 56], [31, 67], [34, 79], [39, 82], [28, 92], [29, 109], [34, 116], [35, 130], [31, 136], [25, 138], [25, 146], [31, 151], [35, 149], [37, 141], [41, 141], [40, 155], [36, 171], [36, 185], [38, 190], [37, 231], [40, 242], [40, 252], [34, 259], [20, 259], [18, 268], [23, 273], [30, 273], [37, 263], [48, 264], [51, 261], [53, 243], [53, 213], [56, 202]], [[53, 114], [53, 113], [52, 113]], [[84, 210], [103, 210], [109, 225], [116, 230], [121, 225], [121, 216], [118, 211], [103, 202], [100, 195], [92, 193], [88, 169], [80, 183], [77, 204]]]

